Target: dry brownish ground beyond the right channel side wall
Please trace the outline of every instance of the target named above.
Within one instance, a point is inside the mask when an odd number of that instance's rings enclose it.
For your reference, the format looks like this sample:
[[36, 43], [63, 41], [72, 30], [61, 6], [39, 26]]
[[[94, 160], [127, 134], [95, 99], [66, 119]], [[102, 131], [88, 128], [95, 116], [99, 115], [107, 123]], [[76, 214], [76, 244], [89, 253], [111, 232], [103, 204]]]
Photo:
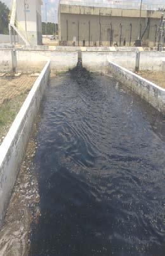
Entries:
[[138, 73], [143, 78], [155, 83], [165, 89], [165, 72], [163, 71], [142, 71]]

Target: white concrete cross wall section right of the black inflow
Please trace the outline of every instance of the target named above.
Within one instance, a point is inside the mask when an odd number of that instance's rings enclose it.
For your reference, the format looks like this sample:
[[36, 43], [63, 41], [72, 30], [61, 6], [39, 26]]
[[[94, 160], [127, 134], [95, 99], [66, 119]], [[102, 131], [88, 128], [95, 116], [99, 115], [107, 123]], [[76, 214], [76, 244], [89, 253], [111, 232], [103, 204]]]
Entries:
[[[140, 70], [162, 71], [165, 52], [141, 51]], [[108, 72], [108, 62], [115, 62], [130, 71], [135, 71], [136, 51], [82, 52], [82, 64], [91, 72]]]

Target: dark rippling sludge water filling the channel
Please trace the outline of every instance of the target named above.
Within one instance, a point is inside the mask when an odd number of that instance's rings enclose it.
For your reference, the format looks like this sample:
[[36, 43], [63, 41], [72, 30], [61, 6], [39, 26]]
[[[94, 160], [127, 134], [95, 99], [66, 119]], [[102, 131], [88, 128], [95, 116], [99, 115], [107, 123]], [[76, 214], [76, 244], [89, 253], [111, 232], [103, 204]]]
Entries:
[[165, 255], [164, 119], [112, 77], [51, 78], [34, 165], [30, 255]]

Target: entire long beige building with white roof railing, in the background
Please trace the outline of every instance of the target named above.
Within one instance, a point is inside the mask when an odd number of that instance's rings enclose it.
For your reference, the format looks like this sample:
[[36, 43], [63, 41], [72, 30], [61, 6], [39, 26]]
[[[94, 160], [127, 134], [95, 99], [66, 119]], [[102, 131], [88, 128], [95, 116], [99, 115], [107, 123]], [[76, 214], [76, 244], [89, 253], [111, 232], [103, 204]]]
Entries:
[[[140, 11], [141, 9], [141, 11]], [[59, 39], [62, 45], [156, 46], [165, 6], [140, 6], [131, 1], [63, 1], [58, 8]]]

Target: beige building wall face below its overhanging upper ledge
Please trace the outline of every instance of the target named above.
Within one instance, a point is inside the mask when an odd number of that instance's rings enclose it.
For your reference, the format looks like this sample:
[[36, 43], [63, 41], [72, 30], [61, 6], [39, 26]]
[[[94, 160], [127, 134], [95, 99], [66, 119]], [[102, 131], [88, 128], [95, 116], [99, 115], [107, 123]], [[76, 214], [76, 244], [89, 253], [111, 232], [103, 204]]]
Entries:
[[[79, 22], [79, 25], [78, 25]], [[90, 30], [89, 30], [90, 22]], [[101, 25], [100, 25], [101, 22]], [[131, 37], [131, 46], [138, 39], [139, 28], [138, 28], [138, 18], [131, 17], [107, 17], [107, 16], [93, 16], [93, 15], [76, 15], [76, 14], [61, 14], [61, 41], [67, 41], [68, 44], [72, 45], [76, 42], [79, 46], [82, 46], [82, 41], [85, 40], [85, 46], [114, 46], [117, 43], [118, 46], [123, 46], [124, 39], [126, 40], [126, 46], [129, 46]], [[67, 25], [68, 23], [68, 25]], [[112, 23], [112, 42], [110, 43], [110, 33]], [[145, 30], [147, 24], [147, 18], [142, 18], [142, 33]], [[121, 33], [122, 24], [122, 33]], [[132, 24], [132, 32], [131, 26]], [[159, 19], [152, 19], [150, 21], [150, 27], [147, 29], [145, 36], [143, 37], [143, 45], [154, 46], [155, 42], [155, 25], [159, 26]], [[78, 29], [79, 27], [79, 29]], [[68, 29], [67, 29], [68, 28]], [[75, 40], [76, 39], [76, 40]]]

